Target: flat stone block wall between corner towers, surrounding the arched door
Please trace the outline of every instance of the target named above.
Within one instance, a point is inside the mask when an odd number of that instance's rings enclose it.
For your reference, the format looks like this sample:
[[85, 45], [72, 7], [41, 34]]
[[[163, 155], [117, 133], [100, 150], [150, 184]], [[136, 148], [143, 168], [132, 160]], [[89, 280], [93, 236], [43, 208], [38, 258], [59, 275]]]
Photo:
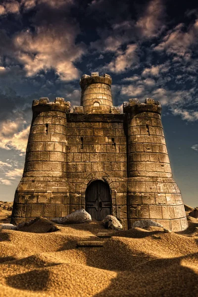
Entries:
[[96, 179], [108, 183], [112, 213], [127, 229], [127, 155], [123, 114], [67, 114], [67, 180], [70, 212], [85, 207]]

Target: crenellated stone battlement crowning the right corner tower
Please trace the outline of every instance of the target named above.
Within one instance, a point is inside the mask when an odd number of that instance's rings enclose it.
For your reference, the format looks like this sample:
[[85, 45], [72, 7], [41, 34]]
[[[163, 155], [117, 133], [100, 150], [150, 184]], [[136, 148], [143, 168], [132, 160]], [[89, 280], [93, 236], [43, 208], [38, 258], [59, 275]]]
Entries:
[[139, 102], [137, 98], [129, 99], [123, 102], [123, 112], [130, 113], [133, 116], [140, 112], [156, 112], [161, 114], [161, 104], [152, 98], [146, 98], [145, 103]]

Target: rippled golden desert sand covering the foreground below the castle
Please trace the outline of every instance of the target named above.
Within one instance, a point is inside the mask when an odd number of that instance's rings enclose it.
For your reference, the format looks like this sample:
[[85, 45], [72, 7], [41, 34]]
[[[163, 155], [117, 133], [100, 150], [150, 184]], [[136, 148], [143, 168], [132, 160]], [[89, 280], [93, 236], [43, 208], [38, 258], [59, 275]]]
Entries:
[[[0, 223], [11, 204], [0, 201]], [[97, 233], [112, 230], [96, 221], [51, 233], [1, 230], [0, 297], [197, 297], [198, 219], [188, 222], [185, 232], [134, 228], [105, 239]], [[77, 247], [86, 240], [104, 246]]]

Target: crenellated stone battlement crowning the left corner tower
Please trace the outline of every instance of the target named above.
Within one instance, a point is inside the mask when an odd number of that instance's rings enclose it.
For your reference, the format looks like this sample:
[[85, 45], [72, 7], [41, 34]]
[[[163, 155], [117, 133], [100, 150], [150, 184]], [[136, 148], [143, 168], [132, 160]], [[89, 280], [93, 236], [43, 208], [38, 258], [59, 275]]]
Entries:
[[33, 100], [32, 110], [33, 111], [48, 111], [58, 110], [62, 112], [70, 112], [71, 103], [65, 101], [64, 98], [56, 97], [54, 102], [50, 102], [49, 98], [42, 97], [39, 100]]

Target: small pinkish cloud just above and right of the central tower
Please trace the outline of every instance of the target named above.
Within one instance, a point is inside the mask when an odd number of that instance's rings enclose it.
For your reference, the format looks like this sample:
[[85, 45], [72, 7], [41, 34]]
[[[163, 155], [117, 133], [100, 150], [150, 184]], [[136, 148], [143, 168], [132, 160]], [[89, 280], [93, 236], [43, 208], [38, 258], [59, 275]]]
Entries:
[[124, 52], [119, 52], [114, 60], [103, 67], [108, 69], [110, 72], [121, 73], [129, 70], [132, 65], [137, 64], [138, 61], [138, 46], [128, 45]]

